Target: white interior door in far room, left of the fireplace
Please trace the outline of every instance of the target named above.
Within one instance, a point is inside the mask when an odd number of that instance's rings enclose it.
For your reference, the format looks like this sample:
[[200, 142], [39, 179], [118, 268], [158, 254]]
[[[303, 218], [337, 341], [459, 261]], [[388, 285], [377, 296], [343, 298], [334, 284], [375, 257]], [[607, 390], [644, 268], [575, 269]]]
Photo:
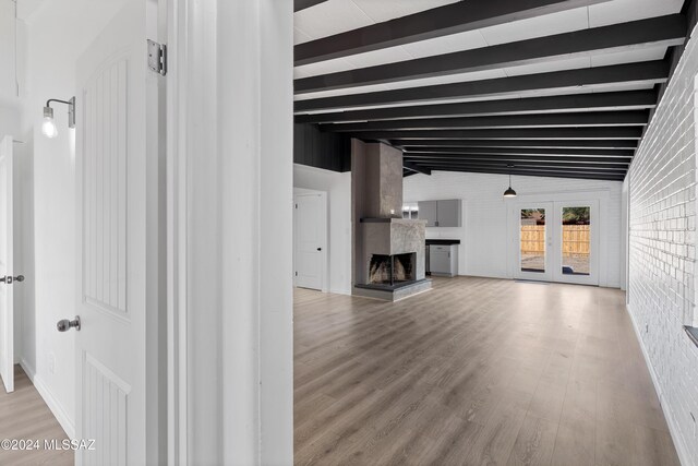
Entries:
[[296, 195], [296, 286], [325, 290], [327, 258], [327, 196]]

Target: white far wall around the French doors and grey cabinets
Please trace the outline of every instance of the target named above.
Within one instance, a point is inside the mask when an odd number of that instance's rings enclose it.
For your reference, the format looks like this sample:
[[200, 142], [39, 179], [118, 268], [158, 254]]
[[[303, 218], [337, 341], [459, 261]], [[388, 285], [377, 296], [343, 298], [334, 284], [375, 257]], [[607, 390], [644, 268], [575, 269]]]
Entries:
[[[413, 175], [405, 179], [405, 202], [438, 199], [464, 201], [461, 228], [426, 228], [426, 238], [460, 239], [458, 271], [461, 275], [495, 278], [510, 277], [512, 258], [507, 253], [509, 238], [508, 203], [502, 196], [508, 176], [433, 171], [431, 176]], [[621, 285], [621, 188], [617, 181], [577, 180], [514, 176], [512, 186], [525, 196], [604, 191], [609, 194], [607, 235], [601, 238], [607, 248], [606, 285]], [[603, 276], [603, 274], [601, 274]]]

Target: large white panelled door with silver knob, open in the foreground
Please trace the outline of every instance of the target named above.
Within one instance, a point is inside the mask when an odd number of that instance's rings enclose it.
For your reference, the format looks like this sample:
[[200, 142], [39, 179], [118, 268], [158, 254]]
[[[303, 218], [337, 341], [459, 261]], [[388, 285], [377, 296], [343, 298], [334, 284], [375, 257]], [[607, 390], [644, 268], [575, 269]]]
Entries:
[[129, 1], [77, 61], [75, 430], [95, 440], [94, 451], [76, 452], [77, 464], [143, 465], [146, 445], [157, 449], [146, 437], [158, 183], [145, 15], [145, 1]]

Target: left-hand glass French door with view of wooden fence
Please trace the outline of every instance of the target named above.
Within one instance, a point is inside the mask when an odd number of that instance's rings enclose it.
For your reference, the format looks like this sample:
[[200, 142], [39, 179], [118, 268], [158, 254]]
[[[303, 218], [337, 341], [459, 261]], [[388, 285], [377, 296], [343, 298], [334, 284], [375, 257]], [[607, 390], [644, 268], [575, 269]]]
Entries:
[[550, 224], [551, 202], [519, 203], [514, 217], [516, 236], [516, 273], [521, 279], [550, 282], [553, 278], [551, 256], [553, 231]]

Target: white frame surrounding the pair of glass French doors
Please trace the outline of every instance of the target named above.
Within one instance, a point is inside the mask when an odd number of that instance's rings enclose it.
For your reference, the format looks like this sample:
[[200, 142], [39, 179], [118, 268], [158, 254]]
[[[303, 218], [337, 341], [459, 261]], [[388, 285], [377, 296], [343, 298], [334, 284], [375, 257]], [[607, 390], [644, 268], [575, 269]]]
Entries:
[[586, 201], [599, 201], [599, 286], [607, 287], [609, 284], [609, 263], [610, 261], [606, 259], [609, 253], [609, 243], [607, 241], [602, 241], [601, 238], [609, 238], [609, 203], [610, 203], [610, 191], [601, 191], [601, 190], [590, 190], [590, 191], [568, 191], [568, 192], [559, 192], [559, 193], [533, 193], [519, 195], [515, 200], [512, 201], [512, 204], [508, 208], [507, 215], [507, 238], [508, 238], [508, 250], [507, 250], [507, 270], [510, 278], [517, 277], [517, 267], [518, 258], [517, 250], [519, 249], [518, 243], [518, 232], [515, 228], [518, 225], [518, 212], [517, 206], [520, 203], [524, 204], [534, 204], [542, 202], [550, 202], [551, 199], [554, 198], [555, 201], [559, 202], [586, 202]]

